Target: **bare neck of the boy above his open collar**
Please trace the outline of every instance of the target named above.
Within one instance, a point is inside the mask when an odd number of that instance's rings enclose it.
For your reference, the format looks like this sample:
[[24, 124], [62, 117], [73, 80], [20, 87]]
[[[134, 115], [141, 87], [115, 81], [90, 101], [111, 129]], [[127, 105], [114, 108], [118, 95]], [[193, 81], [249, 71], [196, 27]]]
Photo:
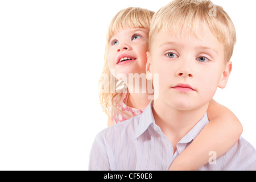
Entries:
[[209, 103], [199, 108], [185, 111], [159, 103], [157, 100], [154, 100], [152, 108], [155, 123], [170, 140], [175, 151], [177, 142], [203, 118]]

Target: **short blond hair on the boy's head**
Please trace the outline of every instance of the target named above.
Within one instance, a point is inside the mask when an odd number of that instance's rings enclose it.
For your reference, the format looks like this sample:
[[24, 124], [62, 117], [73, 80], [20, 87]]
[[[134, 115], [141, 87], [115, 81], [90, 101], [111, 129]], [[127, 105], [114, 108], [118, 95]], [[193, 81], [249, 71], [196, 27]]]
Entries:
[[223, 44], [225, 63], [229, 61], [236, 43], [236, 30], [229, 15], [221, 6], [216, 6], [211, 1], [174, 0], [158, 10], [151, 21], [149, 49], [159, 31], [200, 38], [197, 35], [199, 23], [209, 27], [212, 34]]

